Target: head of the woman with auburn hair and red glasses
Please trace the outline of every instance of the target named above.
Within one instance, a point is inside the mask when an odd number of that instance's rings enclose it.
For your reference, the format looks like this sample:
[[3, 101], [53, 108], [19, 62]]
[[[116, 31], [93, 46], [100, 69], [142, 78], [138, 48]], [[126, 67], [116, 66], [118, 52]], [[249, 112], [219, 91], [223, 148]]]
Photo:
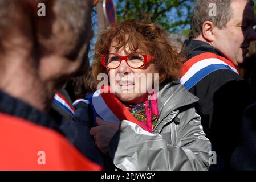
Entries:
[[[102, 57], [106, 64], [115, 62], [116, 68], [104, 67], [101, 64]], [[161, 86], [179, 78], [181, 65], [181, 59], [170, 45], [169, 35], [164, 30], [155, 23], [127, 20], [100, 35], [95, 46], [92, 71], [95, 78], [100, 73], [107, 73], [110, 77], [111, 74], [119, 76], [120, 79], [114, 81], [115, 90], [119, 87], [124, 92], [115, 92], [116, 96], [121, 101], [140, 103], [148, 96], [148, 93], [142, 92], [144, 85], [153, 88], [152, 84], [156, 79], [153, 77], [154, 73], [159, 74], [157, 81]], [[152, 77], [147, 77], [148, 73]], [[141, 77], [136, 77], [136, 74]], [[133, 75], [132, 79], [130, 75]], [[143, 75], [146, 77], [145, 82], [141, 79]], [[139, 84], [136, 85], [135, 82]], [[127, 90], [133, 92], [127, 93]]]

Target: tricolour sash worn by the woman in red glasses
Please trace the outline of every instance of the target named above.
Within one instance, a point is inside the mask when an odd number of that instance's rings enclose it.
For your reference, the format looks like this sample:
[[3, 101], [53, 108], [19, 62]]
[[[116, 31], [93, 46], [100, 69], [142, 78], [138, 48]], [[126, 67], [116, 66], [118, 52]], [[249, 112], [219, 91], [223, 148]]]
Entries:
[[[109, 86], [105, 89], [109, 90]], [[110, 92], [104, 93], [103, 89], [101, 90], [96, 90], [96, 92], [86, 96], [94, 113], [94, 121], [96, 117], [100, 117], [104, 121], [113, 123], [120, 123], [123, 120], [128, 120], [142, 127], [139, 121], [133, 117], [115, 94]]]

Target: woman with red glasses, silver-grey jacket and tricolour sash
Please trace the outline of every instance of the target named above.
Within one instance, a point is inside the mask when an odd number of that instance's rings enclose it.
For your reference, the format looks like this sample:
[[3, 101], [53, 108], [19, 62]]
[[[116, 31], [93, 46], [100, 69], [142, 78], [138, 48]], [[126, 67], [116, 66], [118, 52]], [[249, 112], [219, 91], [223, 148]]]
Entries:
[[72, 120], [76, 146], [122, 170], [207, 170], [210, 142], [193, 107], [198, 98], [178, 82], [181, 67], [155, 23], [128, 20], [105, 31], [92, 64], [99, 89]]

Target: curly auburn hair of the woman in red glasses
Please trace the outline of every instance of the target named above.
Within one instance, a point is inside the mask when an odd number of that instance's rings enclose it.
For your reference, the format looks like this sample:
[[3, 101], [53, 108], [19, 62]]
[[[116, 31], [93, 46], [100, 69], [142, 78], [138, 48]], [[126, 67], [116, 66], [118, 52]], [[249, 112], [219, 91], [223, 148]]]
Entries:
[[99, 36], [95, 44], [95, 60], [92, 63], [94, 78], [99, 73], [107, 73], [107, 69], [101, 65], [101, 56], [109, 53], [113, 39], [117, 42], [115, 46], [117, 50], [128, 46], [130, 51], [140, 50], [155, 56], [155, 60], [151, 63], [159, 73], [160, 85], [180, 78], [181, 57], [171, 46], [169, 35], [155, 23], [138, 20], [127, 20], [116, 24]]

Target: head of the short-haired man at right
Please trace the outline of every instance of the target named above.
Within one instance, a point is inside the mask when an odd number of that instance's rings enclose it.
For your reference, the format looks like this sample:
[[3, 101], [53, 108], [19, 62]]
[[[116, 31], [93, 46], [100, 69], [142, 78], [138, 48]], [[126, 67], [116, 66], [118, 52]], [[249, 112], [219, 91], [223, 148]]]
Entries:
[[[210, 16], [216, 6], [216, 15]], [[208, 42], [234, 65], [246, 59], [249, 44], [256, 40], [253, 2], [250, 0], [199, 0], [195, 6], [190, 39]]]

